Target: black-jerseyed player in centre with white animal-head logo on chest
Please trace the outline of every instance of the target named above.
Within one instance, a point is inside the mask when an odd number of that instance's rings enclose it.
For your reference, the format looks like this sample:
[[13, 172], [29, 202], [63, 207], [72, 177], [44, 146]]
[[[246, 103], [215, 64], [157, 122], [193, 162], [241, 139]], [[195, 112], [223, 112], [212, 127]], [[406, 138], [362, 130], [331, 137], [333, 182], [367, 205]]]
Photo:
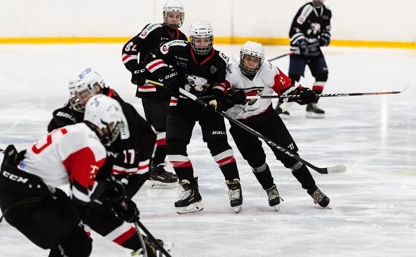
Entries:
[[[214, 114], [191, 99], [179, 96], [179, 87], [210, 102], [217, 101], [221, 110], [225, 90], [225, 69], [228, 57], [213, 48], [213, 30], [207, 21], [196, 21], [190, 29], [190, 42], [170, 41], [152, 50], [145, 58], [146, 68], [158, 78], [172, 97], [167, 116], [166, 152], [183, 187], [175, 202], [178, 213], [202, 210], [197, 178], [188, 158], [187, 145], [195, 122], [202, 129], [203, 141], [219, 165], [229, 188], [230, 205], [236, 211], [242, 203], [238, 170], [232, 149], [227, 142], [222, 116]], [[172, 67], [169, 67], [172, 66]]]

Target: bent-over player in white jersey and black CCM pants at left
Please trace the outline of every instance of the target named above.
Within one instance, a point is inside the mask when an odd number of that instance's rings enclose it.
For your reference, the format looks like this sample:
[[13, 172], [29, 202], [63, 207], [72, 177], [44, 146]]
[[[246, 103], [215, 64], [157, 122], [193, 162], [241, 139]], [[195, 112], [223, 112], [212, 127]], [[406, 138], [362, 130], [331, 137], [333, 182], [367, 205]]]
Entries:
[[[111, 145], [120, 134], [121, 115], [116, 100], [96, 96], [87, 103], [84, 122], [54, 130], [20, 153], [13, 145], [6, 148], [0, 208], [10, 225], [51, 249], [49, 256], [91, 253], [81, 216], [88, 202], [109, 186], [96, 175], [106, 160], [103, 144]], [[65, 184], [70, 184], [71, 197], [57, 188]]]

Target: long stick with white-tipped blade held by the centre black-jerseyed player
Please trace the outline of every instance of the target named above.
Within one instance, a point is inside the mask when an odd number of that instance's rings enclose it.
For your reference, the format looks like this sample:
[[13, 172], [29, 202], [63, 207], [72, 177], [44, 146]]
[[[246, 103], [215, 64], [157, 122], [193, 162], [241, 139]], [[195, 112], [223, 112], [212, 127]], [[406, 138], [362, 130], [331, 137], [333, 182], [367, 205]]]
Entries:
[[[156, 81], [151, 81], [151, 80], [147, 80], [149, 83], [155, 84], [155, 85], [160, 85], [161, 87], [163, 87], [162, 83], [156, 82]], [[199, 98], [197, 98], [196, 96], [192, 95], [191, 93], [189, 93], [188, 91], [179, 88], [179, 93], [181, 93], [182, 95], [194, 100], [195, 102], [208, 107], [209, 104], [205, 103], [204, 101], [200, 100]], [[264, 137], [263, 135], [261, 135], [260, 133], [258, 133], [257, 131], [253, 130], [253, 128], [245, 125], [244, 123], [239, 122], [238, 120], [228, 116], [227, 114], [225, 114], [224, 112], [220, 112], [219, 113], [221, 116], [223, 116], [224, 118], [228, 119], [230, 122], [236, 124], [237, 126], [241, 127], [242, 129], [250, 132], [251, 134], [263, 139], [266, 143], [270, 144], [271, 146], [277, 148], [278, 150], [286, 153], [287, 155], [291, 156], [292, 158], [294, 158], [295, 160], [301, 161], [303, 163], [305, 163], [306, 166], [309, 166], [311, 168], [313, 168], [314, 170], [316, 170], [318, 173], [320, 174], [335, 174], [335, 173], [343, 173], [346, 171], [346, 167], [344, 165], [335, 165], [335, 166], [331, 166], [331, 167], [325, 167], [325, 168], [319, 168], [315, 165], [310, 164], [309, 162], [305, 161], [304, 159], [300, 158], [299, 156], [295, 155], [294, 153], [292, 153], [291, 151], [287, 150], [286, 148], [281, 147], [280, 145], [270, 141], [268, 138]]]

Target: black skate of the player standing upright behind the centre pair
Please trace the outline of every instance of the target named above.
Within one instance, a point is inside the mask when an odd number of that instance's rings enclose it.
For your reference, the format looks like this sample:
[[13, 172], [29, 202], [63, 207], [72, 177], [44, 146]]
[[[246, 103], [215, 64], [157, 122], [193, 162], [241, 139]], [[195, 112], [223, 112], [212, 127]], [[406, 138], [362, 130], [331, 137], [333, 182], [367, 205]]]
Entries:
[[176, 174], [167, 172], [165, 164], [161, 163], [150, 169], [150, 179], [147, 183], [148, 188], [174, 188], [177, 186], [178, 177]]

